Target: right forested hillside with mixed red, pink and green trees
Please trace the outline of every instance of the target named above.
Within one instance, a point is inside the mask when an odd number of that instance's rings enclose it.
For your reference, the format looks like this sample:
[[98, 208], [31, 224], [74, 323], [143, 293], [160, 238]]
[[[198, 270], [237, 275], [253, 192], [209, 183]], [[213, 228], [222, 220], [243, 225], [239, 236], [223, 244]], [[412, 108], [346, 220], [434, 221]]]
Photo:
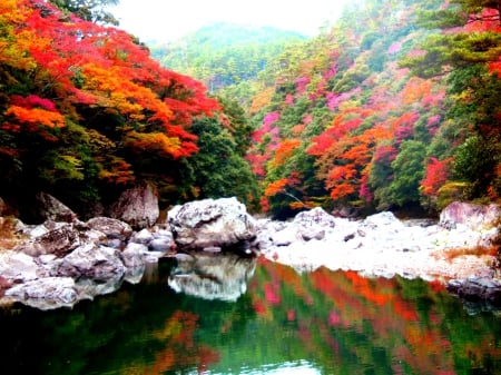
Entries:
[[361, 3], [256, 82], [247, 159], [262, 208], [285, 217], [499, 199], [501, 2]]

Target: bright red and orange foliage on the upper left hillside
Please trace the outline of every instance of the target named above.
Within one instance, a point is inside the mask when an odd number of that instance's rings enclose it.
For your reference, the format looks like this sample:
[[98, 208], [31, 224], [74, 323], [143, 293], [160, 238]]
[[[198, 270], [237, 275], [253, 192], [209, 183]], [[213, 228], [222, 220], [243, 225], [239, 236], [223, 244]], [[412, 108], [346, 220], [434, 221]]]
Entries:
[[[6, 98], [6, 130], [24, 127], [53, 140], [40, 127], [63, 127], [65, 116], [86, 127], [89, 108], [92, 115], [107, 114], [121, 121], [112, 141], [125, 136], [136, 151], [156, 150], [160, 157], [177, 158], [198, 150], [196, 137], [187, 130], [193, 119], [219, 110], [200, 82], [161, 68], [147, 48], [122, 30], [69, 17], [41, 0], [1, 1], [0, 24], [0, 63], [8, 67], [6, 71], [29, 71], [32, 81], [28, 98]], [[7, 78], [18, 85], [16, 77]], [[48, 103], [53, 108], [45, 107]], [[131, 128], [132, 135], [119, 134]]]

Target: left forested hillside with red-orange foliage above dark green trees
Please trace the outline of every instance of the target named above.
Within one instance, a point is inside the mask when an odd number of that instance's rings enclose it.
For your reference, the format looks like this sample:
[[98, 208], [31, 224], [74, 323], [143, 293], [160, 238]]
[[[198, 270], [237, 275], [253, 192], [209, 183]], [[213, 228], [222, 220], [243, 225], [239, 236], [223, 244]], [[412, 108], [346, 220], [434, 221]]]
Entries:
[[108, 2], [1, 1], [0, 197], [28, 219], [38, 191], [92, 215], [145, 181], [164, 206], [247, 201], [256, 185], [242, 108], [104, 26]]

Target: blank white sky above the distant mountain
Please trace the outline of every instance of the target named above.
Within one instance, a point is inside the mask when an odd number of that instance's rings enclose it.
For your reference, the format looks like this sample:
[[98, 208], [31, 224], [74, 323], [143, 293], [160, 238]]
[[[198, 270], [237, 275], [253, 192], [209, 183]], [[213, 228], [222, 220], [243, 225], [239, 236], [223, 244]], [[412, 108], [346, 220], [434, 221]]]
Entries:
[[143, 41], [169, 41], [225, 21], [315, 36], [353, 0], [120, 0], [110, 9], [120, 28]]

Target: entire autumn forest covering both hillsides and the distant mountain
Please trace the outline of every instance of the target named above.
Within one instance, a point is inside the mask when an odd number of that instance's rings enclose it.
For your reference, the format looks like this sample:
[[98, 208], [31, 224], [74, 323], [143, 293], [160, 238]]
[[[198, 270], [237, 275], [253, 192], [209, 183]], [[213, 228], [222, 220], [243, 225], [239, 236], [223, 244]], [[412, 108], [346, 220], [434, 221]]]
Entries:
[[315, 38], [213, 27], [153, 55], [114, 2], [0, 4], [1, 197], [84, 209], [149, 181], [164, 206], [236, 195], [276, 217], [499, 200], [500, 1], [357, 1]]

